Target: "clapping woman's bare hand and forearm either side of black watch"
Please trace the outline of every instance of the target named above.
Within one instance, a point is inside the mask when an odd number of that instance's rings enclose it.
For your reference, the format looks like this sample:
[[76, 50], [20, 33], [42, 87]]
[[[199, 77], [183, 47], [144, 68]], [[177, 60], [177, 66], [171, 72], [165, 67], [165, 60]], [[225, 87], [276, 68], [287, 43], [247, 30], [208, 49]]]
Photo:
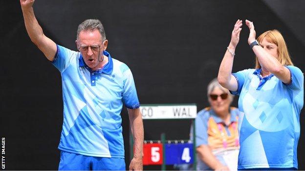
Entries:
[[[256, 39], [256, 32], [253, 22], [246, 20], [246, 25], [250, 30], [248, 38], [248, 43], [250, 45]], [[253, 46], [252, 48], [253, 52], [259, 59], [261, 67], [264, 67], [264, 69], [281, 79], [283, 83], [289, 84], [291, 82], [290, 71], [284, 67], [276, 57], [273, 57], [264, 48], [267, 47]]]

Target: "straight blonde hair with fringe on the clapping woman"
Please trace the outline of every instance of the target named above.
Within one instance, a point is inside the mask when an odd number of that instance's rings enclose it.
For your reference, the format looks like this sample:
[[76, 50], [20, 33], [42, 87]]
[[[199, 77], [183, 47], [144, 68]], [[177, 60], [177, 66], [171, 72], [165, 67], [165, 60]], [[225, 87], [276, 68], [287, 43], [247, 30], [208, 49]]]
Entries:
[[[286, 42], [282, 36], [282, 34], [278, 30], [269, 30], [261, 34], [257, 38], [257, 40], [261, 43], [262, 39], [266, 38], [266, 40], [270, 43], [274, 43], [278, 46], [278, 55], [279, 55], [279, 62], [284, 65], [293, 65], [290, 55], [287, 49]], [[255, 63], [255, 69], [261, 68], [261, 64], [258, 60], [258, 57], [256, 57], [256, 63]]]

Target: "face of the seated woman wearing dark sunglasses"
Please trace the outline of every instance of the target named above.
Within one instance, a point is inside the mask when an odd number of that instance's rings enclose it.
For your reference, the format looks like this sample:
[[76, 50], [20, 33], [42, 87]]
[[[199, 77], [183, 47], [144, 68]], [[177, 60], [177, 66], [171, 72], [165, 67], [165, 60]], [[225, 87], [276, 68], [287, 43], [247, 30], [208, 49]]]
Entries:
[[220, 88], [215, 87], [209, 95], [209, 102], [215, 113], [220, 114], [229, 111], [231, 100], [229, 99], [227, 92], [224, 92]]

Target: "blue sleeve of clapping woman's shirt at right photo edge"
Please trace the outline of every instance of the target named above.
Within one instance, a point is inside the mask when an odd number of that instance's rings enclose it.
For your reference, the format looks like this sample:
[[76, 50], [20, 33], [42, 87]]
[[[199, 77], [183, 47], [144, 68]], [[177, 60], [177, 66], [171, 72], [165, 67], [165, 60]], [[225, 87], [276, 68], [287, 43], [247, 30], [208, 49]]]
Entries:
[[302, 71], [295, 66], [286, 66], [288, 70], [290, 71], [290, 84], [285, 84], [288, 88], [296, 91], [300, 91], [304, 87], [304, 74]]

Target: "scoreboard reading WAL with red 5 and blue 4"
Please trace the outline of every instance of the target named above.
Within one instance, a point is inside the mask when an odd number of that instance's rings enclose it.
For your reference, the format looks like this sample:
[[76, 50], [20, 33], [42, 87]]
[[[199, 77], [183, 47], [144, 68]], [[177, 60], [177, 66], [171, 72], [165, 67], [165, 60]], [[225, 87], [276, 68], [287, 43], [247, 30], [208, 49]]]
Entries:
[[[196, 104], [142, 104], [140, 106], [140, 111], [143, 120], [195, 119], [197, 115], [197, 106]], [[186, 129], [190, 128], [188, 127]], [[195, 129], [195, 123], [193, 129]], [[193, 137], [195, 137], [195, 135]], [[175, 142], [171, 143], [170, 140], [166, 140], [165, 133], [161, 133], [161, 140], [147, 140], [148, 143], [143, 144], [143, 165], [162, 165], [161, 170], [166, 170], [165, 165], [195, 164], [195, 147], [193, 144], [195, 139], [193, 142], [189, 140], [179, 141], [179, 137], [175, 139]], [[132, 135], [130, 141], [132, 149]], [[131, 153], [131, 158], [132, 156], [133, 154]]]

